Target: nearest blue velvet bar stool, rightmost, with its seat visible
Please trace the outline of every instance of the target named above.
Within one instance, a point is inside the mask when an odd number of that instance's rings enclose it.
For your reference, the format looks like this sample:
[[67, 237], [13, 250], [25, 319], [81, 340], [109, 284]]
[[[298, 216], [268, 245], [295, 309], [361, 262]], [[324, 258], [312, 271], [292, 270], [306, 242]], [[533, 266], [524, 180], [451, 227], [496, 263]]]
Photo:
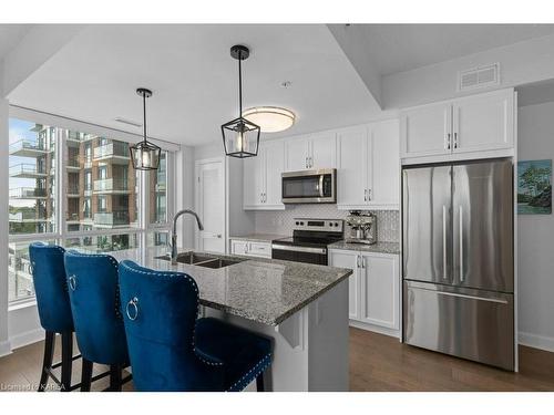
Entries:
[[120, 290], [137, 391], [242, 391], [271, 363], [271, 341], [199, 319], [198, 288], [185, 273], [120, 263]]

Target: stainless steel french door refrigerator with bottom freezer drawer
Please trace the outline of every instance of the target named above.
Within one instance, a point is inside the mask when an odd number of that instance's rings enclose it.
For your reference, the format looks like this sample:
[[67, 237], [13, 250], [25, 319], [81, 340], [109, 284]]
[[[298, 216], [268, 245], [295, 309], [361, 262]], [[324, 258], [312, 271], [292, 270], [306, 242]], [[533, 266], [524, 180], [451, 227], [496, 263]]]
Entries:
[[402, 170], [403, 341], [514, 370], [511, 159]]

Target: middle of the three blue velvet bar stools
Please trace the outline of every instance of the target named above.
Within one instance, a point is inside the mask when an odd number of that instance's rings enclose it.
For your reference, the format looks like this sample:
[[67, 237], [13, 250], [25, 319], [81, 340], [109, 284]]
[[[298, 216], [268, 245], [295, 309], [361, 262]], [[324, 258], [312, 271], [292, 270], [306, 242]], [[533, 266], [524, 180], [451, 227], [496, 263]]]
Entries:
[[121, 391], [122, 370], [129, 366], [127, 344], [120, 313], [117, 261], [109, 255], [65, 252], [71, 311], [83, 355], [81, 391], [91, 390], [94, 363], [110, 366], [110, 387]]

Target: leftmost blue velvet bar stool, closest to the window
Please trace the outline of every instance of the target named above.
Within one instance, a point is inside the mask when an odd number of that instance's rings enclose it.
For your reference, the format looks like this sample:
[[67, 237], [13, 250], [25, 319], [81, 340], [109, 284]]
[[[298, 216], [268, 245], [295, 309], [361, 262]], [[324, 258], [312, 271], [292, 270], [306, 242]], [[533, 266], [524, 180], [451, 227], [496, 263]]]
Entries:
[[[64, 252], [62, 247], [55, 245], [42, 242], [29, 245], [37, 308], [40, 324], [45, 331], [39, 392], [44, 392], [49, 377], [60, 386], [62, 392], [79, 387], [79, 385], [71, 386], [72, 363], [80, 355], [73, 356], [73, 317], [65, 283]], [[62, 360], [59, 363], [52, 363], [57, 333], [62, 340]], [[60, 366], [61, 380], [52, 373], [53, 369]]]

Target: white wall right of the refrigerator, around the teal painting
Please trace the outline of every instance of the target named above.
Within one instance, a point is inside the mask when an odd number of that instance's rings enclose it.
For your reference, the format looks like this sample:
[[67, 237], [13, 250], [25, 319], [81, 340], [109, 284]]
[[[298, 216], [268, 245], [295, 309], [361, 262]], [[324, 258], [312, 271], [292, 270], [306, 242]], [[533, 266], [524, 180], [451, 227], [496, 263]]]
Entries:
[[[519, 159], [554, 159], [554, 102], [519, 108]], [[519, 215], [520, 342], [554, 351], [554, 217]]]

